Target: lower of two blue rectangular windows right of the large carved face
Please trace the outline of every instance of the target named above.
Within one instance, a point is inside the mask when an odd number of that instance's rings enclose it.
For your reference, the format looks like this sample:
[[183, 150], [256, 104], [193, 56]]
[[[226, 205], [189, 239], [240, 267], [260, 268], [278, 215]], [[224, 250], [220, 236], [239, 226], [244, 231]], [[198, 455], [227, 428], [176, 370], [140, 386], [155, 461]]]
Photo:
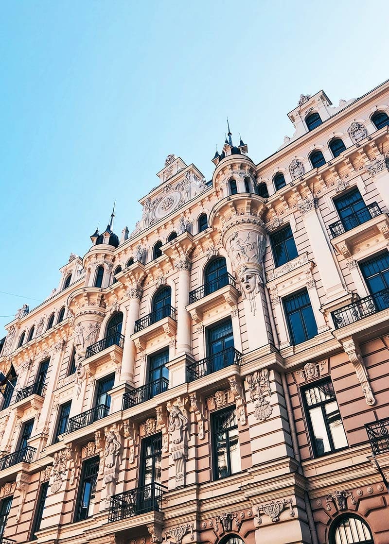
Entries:
[[283, 299], [287, 317], [290, 341], [293, 345], [301, 344], [313, 338], [318, 333], [318, 327], [313, 316], [311, 301], [307, 289], [287, 296]]

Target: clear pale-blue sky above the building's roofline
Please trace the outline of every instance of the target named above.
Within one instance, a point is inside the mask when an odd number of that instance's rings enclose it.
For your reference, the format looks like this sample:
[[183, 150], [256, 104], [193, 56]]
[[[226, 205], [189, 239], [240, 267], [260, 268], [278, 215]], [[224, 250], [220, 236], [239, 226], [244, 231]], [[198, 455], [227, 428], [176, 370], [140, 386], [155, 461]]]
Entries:
[[210, 179], [227, 116], [259, 162], [293, 134], [301, 93], [337, 105], [389, 78], [379, 0], [0, 7], [0, 290], [21, 297], [0, 293], [0, 316], [50, 295], [114, 199], [114, 230], [131, 231], [167, 154]]

